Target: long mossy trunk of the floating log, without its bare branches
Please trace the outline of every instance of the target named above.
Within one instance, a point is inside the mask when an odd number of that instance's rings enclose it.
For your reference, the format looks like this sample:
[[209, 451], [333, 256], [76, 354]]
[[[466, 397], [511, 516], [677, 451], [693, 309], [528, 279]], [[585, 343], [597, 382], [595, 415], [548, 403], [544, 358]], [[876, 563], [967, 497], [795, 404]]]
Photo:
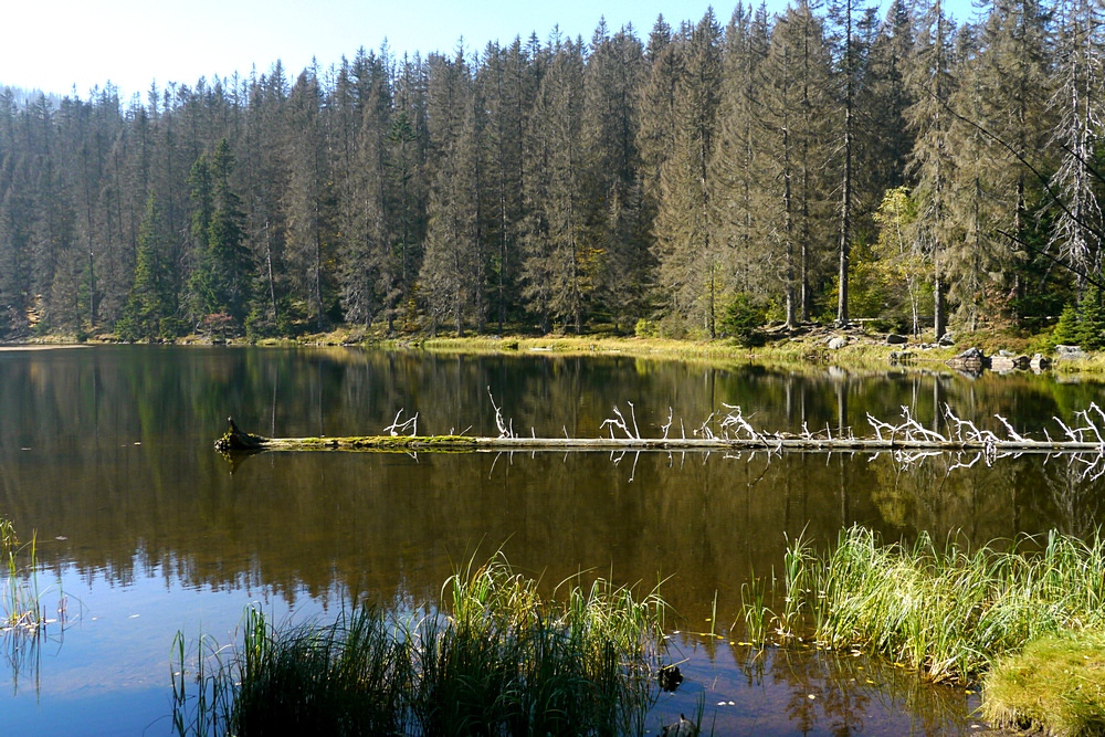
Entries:
[[230, 429], [214, 446], [221, 452], [250, 451], [769, 451], [769, 452], [980, 452], [980, 453], [1105, 453], [1101, 442], [1036, 441], [1023, 438], [918, 439], [852, 438], [757, 433], [756, 436], [713, 438], [499, 438], [478, 435], [355, 435], [348, 438], [265, 438], [238, 428], [228, 418]]

